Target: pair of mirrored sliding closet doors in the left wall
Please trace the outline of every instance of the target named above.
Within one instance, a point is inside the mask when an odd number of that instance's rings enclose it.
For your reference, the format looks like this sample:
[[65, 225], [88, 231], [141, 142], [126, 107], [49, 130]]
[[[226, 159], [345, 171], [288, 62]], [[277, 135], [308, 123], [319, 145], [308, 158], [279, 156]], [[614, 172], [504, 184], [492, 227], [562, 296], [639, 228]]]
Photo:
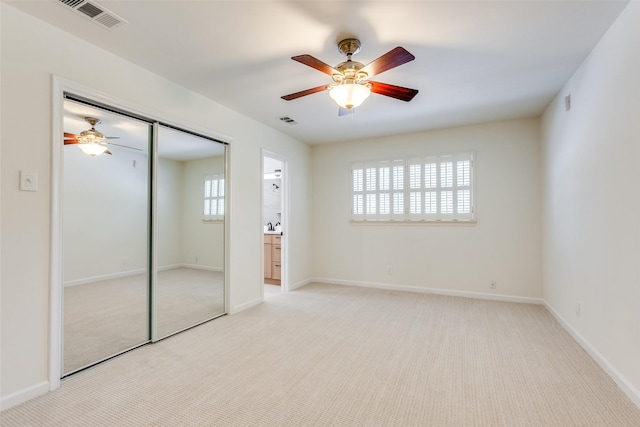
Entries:
[[61, 377], [226, 313], [226, 144], [64, 98]]

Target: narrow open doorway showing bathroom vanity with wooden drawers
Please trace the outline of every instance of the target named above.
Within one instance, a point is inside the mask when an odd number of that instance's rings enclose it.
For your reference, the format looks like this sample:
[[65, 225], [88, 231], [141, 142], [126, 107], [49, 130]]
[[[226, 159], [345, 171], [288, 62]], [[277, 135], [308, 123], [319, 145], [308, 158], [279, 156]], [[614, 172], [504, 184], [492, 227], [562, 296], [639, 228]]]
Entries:
[[264, 281], [263, 296], [287, 290], [289, 265], [287, 160], [263, 151], [262, 230]]

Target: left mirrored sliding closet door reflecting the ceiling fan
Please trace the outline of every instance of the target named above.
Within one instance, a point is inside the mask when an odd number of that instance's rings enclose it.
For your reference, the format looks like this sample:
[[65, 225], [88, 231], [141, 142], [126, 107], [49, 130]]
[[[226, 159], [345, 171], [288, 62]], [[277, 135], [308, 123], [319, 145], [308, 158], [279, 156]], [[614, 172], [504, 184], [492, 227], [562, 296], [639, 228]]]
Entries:
[[69, 100], [63, 125], [62, 372], [69, 374], [150, 339], [151, 125]]

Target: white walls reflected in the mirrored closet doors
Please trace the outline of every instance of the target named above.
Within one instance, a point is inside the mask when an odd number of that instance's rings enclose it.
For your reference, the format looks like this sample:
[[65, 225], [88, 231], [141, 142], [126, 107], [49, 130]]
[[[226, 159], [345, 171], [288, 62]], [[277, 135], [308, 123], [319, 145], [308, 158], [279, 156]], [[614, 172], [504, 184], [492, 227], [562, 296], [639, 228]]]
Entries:
[[[135, 166], [133, 161], [135, 160]], [[205, 175], [224, 157], [158, 164], [158, 266], [224, 268], [224, 222], [202, 220]], [[144, 271], [148, 263], [148, 159], [116, 151], [91, 158], [64, 148], [64, 281], [76, 285]]]

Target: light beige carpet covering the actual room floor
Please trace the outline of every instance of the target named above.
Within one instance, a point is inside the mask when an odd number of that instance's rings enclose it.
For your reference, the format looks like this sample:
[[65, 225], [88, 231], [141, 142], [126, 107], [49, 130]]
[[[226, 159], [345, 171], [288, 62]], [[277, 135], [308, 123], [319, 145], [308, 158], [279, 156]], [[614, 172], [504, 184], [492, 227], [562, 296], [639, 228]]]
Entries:
[[542, 306], [311, 284], [142, 347], [3, 426], [640, 426]]

